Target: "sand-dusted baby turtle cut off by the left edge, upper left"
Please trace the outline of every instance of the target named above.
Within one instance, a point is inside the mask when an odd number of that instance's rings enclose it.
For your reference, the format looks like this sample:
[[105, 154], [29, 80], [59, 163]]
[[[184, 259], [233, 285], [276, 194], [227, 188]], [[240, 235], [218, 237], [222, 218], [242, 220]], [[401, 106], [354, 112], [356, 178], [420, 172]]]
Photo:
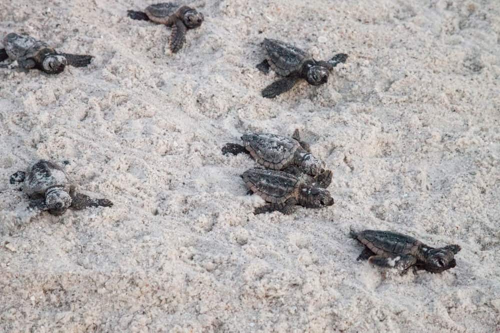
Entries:
[[[3, 39], [3, 47], [0, 49], [0, 62], [8, 58], [17, 61], [18, 68], [36, 68], [47, 74], [58, 74], [66, 65], [84, 67], [93, 58], [86, 54], [60, 53], [41, 40], [13, 32]], [[0, 67], [5, 68], [8, 65], [0, 65]]]

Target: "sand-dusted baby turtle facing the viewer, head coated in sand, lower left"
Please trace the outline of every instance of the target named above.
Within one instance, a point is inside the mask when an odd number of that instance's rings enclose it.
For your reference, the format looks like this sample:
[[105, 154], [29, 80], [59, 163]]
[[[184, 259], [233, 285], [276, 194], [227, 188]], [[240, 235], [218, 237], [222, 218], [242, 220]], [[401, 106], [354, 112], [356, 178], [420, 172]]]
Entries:
[[80, 210], [86, 207], [112, 206], [107, 199], [90, 199], [74, 192], [74, 183], [61, 167], [46, 160], [39, 160], [26, 172], [17, 171], [10, 176], [10, 183], [24, 182], [24, 192], [30, 199], [29, 207], [48, 210], [61, 215], [66, 209]]

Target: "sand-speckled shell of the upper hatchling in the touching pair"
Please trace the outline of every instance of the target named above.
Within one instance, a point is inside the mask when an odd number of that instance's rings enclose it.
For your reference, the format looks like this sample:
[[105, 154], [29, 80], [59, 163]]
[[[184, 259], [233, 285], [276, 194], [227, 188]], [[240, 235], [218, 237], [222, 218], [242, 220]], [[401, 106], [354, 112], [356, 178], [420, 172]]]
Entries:
[[241, 137], [246, 150], [258, 164], [281, 170], [293, 162], [300, 147], [297, 140], [268, 133], [249, 133]]

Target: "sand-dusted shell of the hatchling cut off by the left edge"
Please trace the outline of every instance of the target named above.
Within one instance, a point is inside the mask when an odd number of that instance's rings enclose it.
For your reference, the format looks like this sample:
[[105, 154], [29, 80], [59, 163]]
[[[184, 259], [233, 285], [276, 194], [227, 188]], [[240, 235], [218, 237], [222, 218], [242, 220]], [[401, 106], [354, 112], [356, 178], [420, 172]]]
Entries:
[[12, 60], [35, 58], [40, 61], [40, 51], [46, 50], [46, 52], [43, 53], [55, 53], [55, 50], [49, 47], [47, 43], [31, 36], [22, 36], [13, 32], [5, 36], [3, 45], [5, 47], [5, 52]]

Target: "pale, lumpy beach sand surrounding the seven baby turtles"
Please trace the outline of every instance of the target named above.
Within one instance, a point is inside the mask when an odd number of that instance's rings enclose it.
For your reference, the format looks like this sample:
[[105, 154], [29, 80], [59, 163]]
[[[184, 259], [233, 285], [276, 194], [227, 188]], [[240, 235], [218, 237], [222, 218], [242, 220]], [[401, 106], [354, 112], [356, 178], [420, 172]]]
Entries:
[[[2, 36], [95, 56], [0, 71], [1, 332], [500, 330], [500, 2], [275, 2], [195, 2], [177, 54], [125, 17], [151, 2], [0, 2]], [[349, 58], [263, 99], [264, 37]], [[256, 164], [220, 147], [295, 128], [335, 204], [254, 216], [238, 175]], [[27, 211], [8, 177], [39, 158], [114, 206]], [[349, 226], [462, 251], [400, 276], [356, 262]]]

